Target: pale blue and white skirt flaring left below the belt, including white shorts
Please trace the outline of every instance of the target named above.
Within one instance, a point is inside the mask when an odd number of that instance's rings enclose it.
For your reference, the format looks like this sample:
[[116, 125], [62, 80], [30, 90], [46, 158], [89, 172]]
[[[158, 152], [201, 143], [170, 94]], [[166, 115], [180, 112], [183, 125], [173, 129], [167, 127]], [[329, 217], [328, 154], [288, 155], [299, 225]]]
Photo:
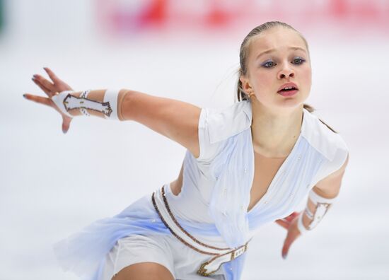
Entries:
[[[178, 221], [201, 242], [223, 247], [215, 225]], [[165, 226], [146, 195], [120, 214], [103, 218], [54, 245], [59, 264], [82, 279], [108, 280], [124, 267], [139, 262], [163, 265], [175, 279], [240, 279], [245, 254], [226, 262], [211, 276], [197, 271], [212, 255], [182, 243]]]

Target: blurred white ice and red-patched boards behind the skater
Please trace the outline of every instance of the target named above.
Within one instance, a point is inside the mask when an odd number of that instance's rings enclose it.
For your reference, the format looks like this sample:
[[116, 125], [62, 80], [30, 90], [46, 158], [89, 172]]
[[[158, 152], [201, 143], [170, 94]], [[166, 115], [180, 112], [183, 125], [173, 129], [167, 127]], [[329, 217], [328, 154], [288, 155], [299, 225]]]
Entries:
[[243, 279], [389, 279], [388, 0], [0, 0], [0, 280], [76, 279], [53, 243], [174, 180], [185, 153], [132, 122], [77, 118], [62, 134], [57, 112], [22, 97], [44, 95], [33, 74], [226, 107], [240, 43], [274, 20], [306, 36], [307, 103], [350, 160], [320, 226], [286, 260], [286, 231], [264, 226]]

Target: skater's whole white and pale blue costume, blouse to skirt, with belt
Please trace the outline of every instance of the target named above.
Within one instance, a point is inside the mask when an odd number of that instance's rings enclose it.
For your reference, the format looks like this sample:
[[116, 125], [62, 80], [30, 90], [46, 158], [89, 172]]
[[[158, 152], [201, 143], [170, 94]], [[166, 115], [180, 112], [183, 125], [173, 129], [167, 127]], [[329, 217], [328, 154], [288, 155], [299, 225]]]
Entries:
[[[187, 151], [180, 194], [175, 196], [169, 185], [163, 190], [158, 187], [153, 198], [142, 197], [117, 216], [96, 221], [58, 243], [56, 252], [63, 267], [91, 279], [110, 279], [130, 264], [158, 262], [175, 279], [240, 279], [246, 249], [242, 246], [264, 223], [295, 211], [319, 180], [343, 165], [348, 153], [341, 136], [304, 109], [294, 148], [265, 195], [247, 211], [254, 176], [251, 110], [250, 100], [223, 110], [203, 108], [199, 118], [200, 156], [194, 158]], [[171, 222], [166, 226], [168, 212], [161, 214], [153, 204], [156, 199], [163, 205], [163, 197], [185, 234], [217, 248], [243, 249], [233, 251], [236, 258], [223, 262], [211, 275], [197, 274], [212, 256], [194, 250], [188, 245], [192, 242], [189, 239], [185, 244], [172, 234], [175, 225]], [[184, 239], [185, 234], [181, 235]], [[209, 267], [220, 260], [216, 257]]]

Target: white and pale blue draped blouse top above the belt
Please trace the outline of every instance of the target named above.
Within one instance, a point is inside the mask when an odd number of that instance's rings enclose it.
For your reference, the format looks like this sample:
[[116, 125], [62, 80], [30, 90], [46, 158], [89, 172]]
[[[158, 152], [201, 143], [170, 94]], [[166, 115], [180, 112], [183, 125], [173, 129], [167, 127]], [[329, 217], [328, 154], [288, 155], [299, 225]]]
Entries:
[[303, 109], [301, 134], [265, 195], [250, 210], [254, 177], [249, 100], [223, 110], [203, 108], [199, 158], [187, 151], [182, 190], [167, 193], [173, 214], [188, 222], [214, 223], [230, 247], [244, 244], [262, 224], [289, 216], [306, 194], [338, 170], [348, 148], [339, 134]]

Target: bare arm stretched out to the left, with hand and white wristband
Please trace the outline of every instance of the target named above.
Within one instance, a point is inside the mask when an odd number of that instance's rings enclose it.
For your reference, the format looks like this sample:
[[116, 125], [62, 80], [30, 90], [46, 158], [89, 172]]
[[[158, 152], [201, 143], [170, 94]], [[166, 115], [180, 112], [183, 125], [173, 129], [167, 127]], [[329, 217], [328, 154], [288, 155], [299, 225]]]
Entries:
[[[35, 75], [33, 81], [46, 93], [47, 98], [28, 93], [23, 96], [57, 110], [63, 118], [62, 130], [64, 132], [69, 129], [73, 117], [82, 115], [109, 117], [110, 110], [115, 110], [117, 119], [144, 124], [153, 131], [178, 142], [194, 157], [199, 156], [198, 123], [201, 111], [199, 107], [127, 89], [116, 92], [93, 90], [88, 91], [85, 97], [86, 92], [72, 91], [70, 86], [55, 76], [50, 69], [45, 69], [45, 71], [52, 81], [40, 75]], [[107, 98], [112, 100], [110, 106], [107, 105]], [[93, 109], [88, 109], [89, 107]]]

